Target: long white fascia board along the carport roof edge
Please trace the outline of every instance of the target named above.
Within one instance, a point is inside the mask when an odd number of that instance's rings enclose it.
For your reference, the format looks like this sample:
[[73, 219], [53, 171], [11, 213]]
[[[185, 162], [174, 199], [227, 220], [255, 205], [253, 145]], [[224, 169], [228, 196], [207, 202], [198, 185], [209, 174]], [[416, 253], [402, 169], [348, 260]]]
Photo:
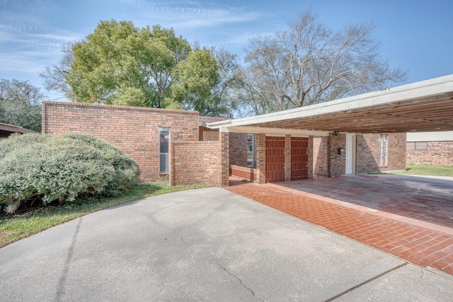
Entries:
[[276, 122], [279, 120], [292, 120], [304, 117], [314, 117], [336, 112], [348, 112], [360, 108], [368, 108], [377, 105], [386, 105], [411, 100], [414, 98], [423, 98], [430, 95], [439, 95], [453, 91], [453, 74], [441, 76], [435, 79], [415, 82], [382, 91], [374, 91], [354, 95], [339, 100], [331, 100], [326, 103], [308, 105], [301, 108], [294, 108], [279, 112], [257, 115], [255, 117], [244, 117], [236, 120], [225, 120], [222, 122], [213, 122], [208, 124], [210, 128], [237, 127], [247, 124], [260, 124], [265, 122]]

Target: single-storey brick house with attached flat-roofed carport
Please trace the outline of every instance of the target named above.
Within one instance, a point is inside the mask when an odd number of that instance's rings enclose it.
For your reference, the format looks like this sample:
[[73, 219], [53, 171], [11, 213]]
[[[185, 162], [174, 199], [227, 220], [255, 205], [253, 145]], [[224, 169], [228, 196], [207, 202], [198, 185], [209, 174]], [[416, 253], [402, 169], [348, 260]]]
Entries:
[[227, 186], [229, 175], [264, 183], [403, 170], [406, 132], [434, 129], [453, 130], [453, 75], [236, 120], [42, 103], [43, 133], [101, 137], [137, 161], [140, 181], [171, 185]]

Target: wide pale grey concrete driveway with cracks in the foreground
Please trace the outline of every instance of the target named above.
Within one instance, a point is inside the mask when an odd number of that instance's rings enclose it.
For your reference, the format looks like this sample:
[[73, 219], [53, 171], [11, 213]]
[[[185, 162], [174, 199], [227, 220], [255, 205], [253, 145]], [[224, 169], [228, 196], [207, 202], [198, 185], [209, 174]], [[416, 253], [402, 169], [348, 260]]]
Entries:
[[221, 188], [98, 211], [0, 249], [0, 301], [452, 301], [423, 269]]

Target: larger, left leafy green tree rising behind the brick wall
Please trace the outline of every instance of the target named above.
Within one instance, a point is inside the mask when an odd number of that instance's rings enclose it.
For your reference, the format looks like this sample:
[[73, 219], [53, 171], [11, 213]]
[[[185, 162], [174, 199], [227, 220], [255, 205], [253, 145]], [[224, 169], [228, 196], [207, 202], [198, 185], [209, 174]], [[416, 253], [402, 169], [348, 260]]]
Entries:
[[[66, 79], [76, 101], [165, 108], [173, 72], [188, 57], [190, 45], [159, 25], [151, 30], [127, 21], [101, 21], [72, 52]], [[132, 95], [139, 100], [131, 100]]]

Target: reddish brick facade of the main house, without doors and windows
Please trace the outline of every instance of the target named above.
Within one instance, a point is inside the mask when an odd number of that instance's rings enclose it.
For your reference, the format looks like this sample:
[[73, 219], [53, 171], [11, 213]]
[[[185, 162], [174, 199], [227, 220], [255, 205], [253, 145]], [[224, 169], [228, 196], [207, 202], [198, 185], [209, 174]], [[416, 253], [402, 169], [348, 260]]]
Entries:
[[[166, 180], [159, 174], [159, 128], [170, 129], [169, 172], [172, 185], [228, 185], [229, 174], [265, 183], [266, 136], [254, 134], [254, 167], [247, 167], [247, 134], [218, 132], [217, 141], [202, 141], [197, 112], [129, 106], [43, 102], [43, 133], [88, 133], [119, 147], [137, 161], [141, 182]], [[217, 135], [216, 135], [217, 137]], [[356, 135], [355, 173], [406, 168], [406, 134], [388, 135], [387, 165], [379, 167], [379, 134]], [[292, 178], [292, 137], [282, 137], [283, 180]], [[308, 178], [345, 174], [345, 134], [309, 137]], [[452, 146], [449, 145], [449, 150]], [[415, 151], [420, 153], [420, 151]], [[443, 153], [442, 153], [443, 154]], [[451, 153], [442, 155], [452, 158]], [[305, 176], [306, 177], [306, 176]], [[279, 178], [279, 179], [280, 179]]]

